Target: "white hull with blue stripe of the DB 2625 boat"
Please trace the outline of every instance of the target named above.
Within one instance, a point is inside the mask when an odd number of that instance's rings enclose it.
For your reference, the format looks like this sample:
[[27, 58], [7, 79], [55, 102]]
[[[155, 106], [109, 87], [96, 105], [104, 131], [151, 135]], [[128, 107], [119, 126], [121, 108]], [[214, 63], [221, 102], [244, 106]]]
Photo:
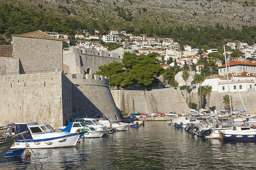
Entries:
[[[85, 132], [72, 133], [65, 136], [48, 139], [26, 140], [31, 149], [50, 149], [50, 148], [73, 148], [77, 144], [80, 137]], [[11, 148], [26, 148], [27, 145], [24, 140], [18, 140]]]

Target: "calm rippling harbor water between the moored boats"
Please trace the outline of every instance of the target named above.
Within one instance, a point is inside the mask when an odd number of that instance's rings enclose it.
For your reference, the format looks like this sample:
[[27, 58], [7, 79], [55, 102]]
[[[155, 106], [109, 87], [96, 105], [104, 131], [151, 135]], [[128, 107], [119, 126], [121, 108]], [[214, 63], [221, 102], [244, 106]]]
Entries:
[[[82, 139], [76, 148], [33, 151], [42, 169], [256, 169], [256, 143], [197, 138], [163, 121]], [[33, 168], [25, 156], [0, 163], [1, 170]]]

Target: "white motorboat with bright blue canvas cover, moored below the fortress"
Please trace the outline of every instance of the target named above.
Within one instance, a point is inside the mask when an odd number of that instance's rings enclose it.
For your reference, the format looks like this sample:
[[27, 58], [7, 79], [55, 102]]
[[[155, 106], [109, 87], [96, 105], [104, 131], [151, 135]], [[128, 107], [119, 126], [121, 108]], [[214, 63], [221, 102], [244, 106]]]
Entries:
[[86, 132], [81, 138], [100, 138], [106, 133], [105, 130], [95, 130], [93, 127], [86, 126], [84, 122], [69, 122], [67, 126], [58, 129], [69, 133]]

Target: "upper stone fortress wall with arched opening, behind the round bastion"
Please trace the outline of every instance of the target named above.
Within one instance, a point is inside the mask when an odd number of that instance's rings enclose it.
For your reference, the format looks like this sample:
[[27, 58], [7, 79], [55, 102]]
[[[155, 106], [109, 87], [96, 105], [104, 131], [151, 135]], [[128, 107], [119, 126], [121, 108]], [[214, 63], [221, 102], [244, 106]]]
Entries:
[[113, 61], [122, 62], [123, 54], [96, 51], [83, 47], [70, 47], [63, 52], [63, 64], [69, 66], [69, 73], [88, 74], [99, 71], [98, 67]]

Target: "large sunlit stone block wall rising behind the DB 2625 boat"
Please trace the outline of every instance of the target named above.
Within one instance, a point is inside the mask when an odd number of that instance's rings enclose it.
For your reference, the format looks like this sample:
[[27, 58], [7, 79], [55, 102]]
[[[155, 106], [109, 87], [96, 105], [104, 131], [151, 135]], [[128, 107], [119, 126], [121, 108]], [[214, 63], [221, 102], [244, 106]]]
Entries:
[[12, 122], [63, 126], [61, 72], [0, 76], [0, 126]]

